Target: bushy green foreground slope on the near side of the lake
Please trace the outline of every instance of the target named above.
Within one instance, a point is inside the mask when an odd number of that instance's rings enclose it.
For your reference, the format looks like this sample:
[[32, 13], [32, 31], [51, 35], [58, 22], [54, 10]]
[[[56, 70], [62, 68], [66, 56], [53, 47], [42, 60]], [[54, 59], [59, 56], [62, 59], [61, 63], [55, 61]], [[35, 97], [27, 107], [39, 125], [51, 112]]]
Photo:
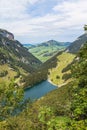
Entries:
[[[29, 102], [20, 114], [1, 120], [1, 130], [87, 130], [86, 50], [87, 44], [76, 55], [71, 69], [73, 80], [70, 83], [50, 92], [33, 104]], [[8, 106], [7, 104], [6, 108]], [[4, 112], [6, 110], [9, 108], [4, 109]], [[9, 116], [9, 113], [7, 115]]]

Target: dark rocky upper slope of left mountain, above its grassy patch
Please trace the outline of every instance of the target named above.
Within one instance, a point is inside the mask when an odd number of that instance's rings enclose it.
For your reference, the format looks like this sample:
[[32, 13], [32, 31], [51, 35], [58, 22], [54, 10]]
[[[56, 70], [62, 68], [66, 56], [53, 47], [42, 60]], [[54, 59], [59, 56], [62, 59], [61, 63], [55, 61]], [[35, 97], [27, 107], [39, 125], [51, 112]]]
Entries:
[[41, 61], [19, 41], [14, 40], [12, 33], [0, 29], [0, 64], [12, 64], [32, 72], [41, 64]]

